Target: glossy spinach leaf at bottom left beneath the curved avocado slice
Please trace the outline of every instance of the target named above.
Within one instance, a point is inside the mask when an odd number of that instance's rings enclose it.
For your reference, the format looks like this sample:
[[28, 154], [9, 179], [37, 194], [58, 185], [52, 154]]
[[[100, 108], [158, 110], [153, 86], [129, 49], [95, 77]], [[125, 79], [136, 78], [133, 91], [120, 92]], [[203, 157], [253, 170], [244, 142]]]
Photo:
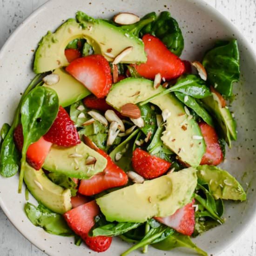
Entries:
[[46, 232], [59, 236], [73, 236], [74, 233], [67, 226], [63, 216], [51, 212], [49, 209], [39, 204], [37, 207], [32, 203], [25, 204], [25, 212], [29, 220], [38, 227], [43, 228]]

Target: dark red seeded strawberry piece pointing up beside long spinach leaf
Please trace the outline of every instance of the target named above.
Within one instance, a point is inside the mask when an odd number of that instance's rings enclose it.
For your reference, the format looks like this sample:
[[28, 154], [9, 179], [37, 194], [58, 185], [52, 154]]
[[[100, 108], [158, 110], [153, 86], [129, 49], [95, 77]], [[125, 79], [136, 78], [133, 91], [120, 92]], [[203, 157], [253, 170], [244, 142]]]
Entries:
[[77, 130], [74, 127], [74, 122], [70, 119], [67, 111], [61, 106], [52, 127], [44, 135], [44, 138], [63, 147], [74, 146], [81, 142]]

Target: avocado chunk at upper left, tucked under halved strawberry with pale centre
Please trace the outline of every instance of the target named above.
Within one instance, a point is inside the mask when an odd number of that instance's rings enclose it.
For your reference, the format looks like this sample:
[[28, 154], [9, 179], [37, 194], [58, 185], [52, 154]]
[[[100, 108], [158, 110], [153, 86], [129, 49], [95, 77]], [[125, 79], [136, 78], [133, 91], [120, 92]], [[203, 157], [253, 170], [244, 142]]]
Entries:
[[81, 82], [74, 79], [70, 74], [67, 74], [62, 68], [54, 70], [53, 74], [58, 74], [60, 80], [53, 85], [43, 84], [45, 87], [54, 89], [58, 94], [60, 105], [65, 108], [76, 101], [80, 101], [91, 92]]

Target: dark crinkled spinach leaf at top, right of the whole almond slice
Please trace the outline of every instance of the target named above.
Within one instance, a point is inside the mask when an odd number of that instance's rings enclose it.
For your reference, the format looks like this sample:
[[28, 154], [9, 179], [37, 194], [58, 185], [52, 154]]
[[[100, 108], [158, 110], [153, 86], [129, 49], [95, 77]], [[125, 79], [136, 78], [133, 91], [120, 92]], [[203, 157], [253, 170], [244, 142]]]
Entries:
[[180, 56], [184, 48], [182, 31], [177, 21], [167, 11], [160, 13], [157, 19], [141, 30], [141, 35], [152, 34], [162, 40], [168, 49]]

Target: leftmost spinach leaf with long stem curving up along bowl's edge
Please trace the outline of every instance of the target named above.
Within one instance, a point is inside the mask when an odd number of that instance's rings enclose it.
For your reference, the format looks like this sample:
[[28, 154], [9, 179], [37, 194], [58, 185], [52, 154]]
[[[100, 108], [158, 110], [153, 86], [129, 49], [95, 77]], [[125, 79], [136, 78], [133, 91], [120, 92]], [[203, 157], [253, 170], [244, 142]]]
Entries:
[[20, 153], [15, 147], [15, 143], [13, 140], [13, 131], [16, 126], [20, 123], [20, 107], [27, 96], [27, 94], [35, 87], [40, 86], [42, 82], [40, 81], [41, 74], [37, 74], [34, 79], [29, 83], [27, 89], [23, 93], [20, 103], [15, 111], [13, 124], [9, 129], [7, 135], [5, 135], [4, 141], [1, 145], [0, 151], [0, 174], [4, 177], [11, 177], [15, 175], [20, 166]]

